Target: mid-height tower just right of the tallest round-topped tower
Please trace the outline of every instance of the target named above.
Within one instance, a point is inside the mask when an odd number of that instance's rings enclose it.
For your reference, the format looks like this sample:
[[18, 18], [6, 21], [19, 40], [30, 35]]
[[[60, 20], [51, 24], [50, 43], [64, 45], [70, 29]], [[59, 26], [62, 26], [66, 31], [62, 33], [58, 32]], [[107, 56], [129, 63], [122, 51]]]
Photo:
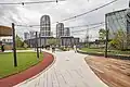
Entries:
[[64, 36], [64, 24], [58, 23], [56, 24], [56, 38], [60, 38], [62, 36]]

